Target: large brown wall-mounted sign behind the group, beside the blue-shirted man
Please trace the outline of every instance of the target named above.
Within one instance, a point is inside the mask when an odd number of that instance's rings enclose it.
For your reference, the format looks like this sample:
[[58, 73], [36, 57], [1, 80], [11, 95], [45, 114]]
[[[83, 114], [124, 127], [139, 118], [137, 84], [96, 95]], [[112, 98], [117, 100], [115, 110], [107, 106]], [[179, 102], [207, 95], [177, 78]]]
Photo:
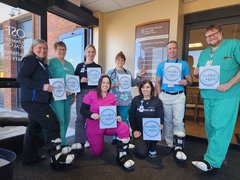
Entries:
[[145, 68], [145, 78], [155, 80], [157, 65], [167, 58], [169, 21], [138, 25], [135, 39], [135, 75]]

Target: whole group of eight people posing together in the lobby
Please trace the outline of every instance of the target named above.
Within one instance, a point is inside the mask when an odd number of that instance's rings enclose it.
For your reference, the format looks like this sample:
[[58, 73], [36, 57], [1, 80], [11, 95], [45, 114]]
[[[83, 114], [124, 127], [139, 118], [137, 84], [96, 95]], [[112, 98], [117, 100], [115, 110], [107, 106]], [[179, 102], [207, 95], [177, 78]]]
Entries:
[[[205, 32], [209, 45], [200, 55], [198, 67], [220, 65], [220, 85], [214, 90], [201, 89], [204, 98], [205, 126], [208, 139], [204, 159], [192, 164], [204, 172], [216, 172], [226, 156], [237, 119], [240, 101], [240, 41], [224, 40], [218, 25], [209, 26]], [[126, 171], [134, 169], [134, 161], [129, 155], [131, 135], [135, 154], [140, 157], [156, 157], [157, 141], [144, 140], [143, 118], [159, 118], [163, 139], [174, 151], [178, 161], [185, 162], [185, 88], [192, 84], [190, 68], [186, 61], [178, 58], [178, 44], [167, 44], [168, 58], [159, 63], [153, 82], [142, 78], [142, 69], [134, 79], [124, 68], [126, 57], [119, 52], [115, 57], [116, 67], [102, 75], [98, 84], [88, 85], [87, 69], [101, 68], [94, 62], [96, 49], [88, 45], [85, 61], [78, 64], [75, 71], [65, 60], [67, 47], [63, 42], [54, 45], [55, 57], [47, 63], [47, 43], [34, 40], [29, 55], [23, 58], [17, 81], [21, 85], [21, 105], [29, 115], [29, 125], [24, 137], [23, 163], [31, 164], [40, 160], [38, 156], [39, 131], [46, 132], [50, 163], [54, 169], [70, 164], [74, 150], [90, 147], [93, 155], [104, 150], [104, 135], [112, 136], [116, 144], [117, 162]], [[210, 62], [209, 62], [210, 61]], [[181, 77], [177, 84], [165, 81], [165, 66], [168, 63], [181, 65]], [[71, 104], [75, 94], [66, 92], [67, 99], [54, 101], [53, 87], [49, 78], [64, 78], [66, 74], [79, 76], [81, 92], [76, 95], [75, 139], [70, 147], [66, 142], [66, 131], [70, 121]], [[129, 75], [131, 85], [138, 86], [139, 95], [132, 99], [130, 91], [120, 91], [119, 75]], [[194, 70], [198, 76], [199, 70]], [[156, 92], [155, 92], [156, 89]], [[157, 95], [157, 96], [156, 96]], [[225, 104], [228, 108], [225, 108]], [[100, 106], [116, 106], [117, 127], [100, 129]], [[227, 113], [226, 113], [227, 112]]]

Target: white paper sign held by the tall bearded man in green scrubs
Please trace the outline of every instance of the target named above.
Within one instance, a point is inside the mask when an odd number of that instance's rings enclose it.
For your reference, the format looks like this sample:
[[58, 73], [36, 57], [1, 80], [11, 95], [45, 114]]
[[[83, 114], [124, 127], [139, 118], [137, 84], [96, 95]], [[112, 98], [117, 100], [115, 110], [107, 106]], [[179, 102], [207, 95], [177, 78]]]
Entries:
[[220, 66], [199, 68], [199, 89], [216, 89], [220, 84]]

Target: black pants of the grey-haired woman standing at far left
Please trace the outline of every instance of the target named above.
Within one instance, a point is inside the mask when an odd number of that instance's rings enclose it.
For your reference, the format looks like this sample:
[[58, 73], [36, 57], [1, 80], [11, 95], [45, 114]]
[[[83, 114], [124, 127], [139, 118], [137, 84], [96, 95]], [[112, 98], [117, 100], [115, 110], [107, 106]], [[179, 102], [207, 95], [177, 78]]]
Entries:
[[58, 119], [48, 103], [22, 102], [22, 108], [28, 113], [29, 124], [23, 142], [23, 162], [35, 161], [38, 158], [39, 134], [46, 133], [46, 144], [60, 138]]

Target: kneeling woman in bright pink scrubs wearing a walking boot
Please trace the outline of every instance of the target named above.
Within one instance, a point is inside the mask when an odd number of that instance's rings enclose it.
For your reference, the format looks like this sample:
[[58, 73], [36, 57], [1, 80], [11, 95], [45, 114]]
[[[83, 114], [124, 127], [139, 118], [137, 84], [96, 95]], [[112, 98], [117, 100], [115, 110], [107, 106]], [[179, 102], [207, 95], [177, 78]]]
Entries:
[[117, 101], [113, 94], [109, 93], [111, 80], [108, 76], [102, 76], [98, 81], [96, 90], [87, 93], [82, 102], [81, 113], [86, 117], [86, 135], [90, 143], [91, 153], [95, 156], [102, 154], [104, 149], [104, 135], [117, 135], [117, 162], [126, 171], [134, 169], [134, 161], [128, 155], [130, 132], [128, 125], [117, 116], [117, 127], [100, 129], [99, 107], [116, 106]]

